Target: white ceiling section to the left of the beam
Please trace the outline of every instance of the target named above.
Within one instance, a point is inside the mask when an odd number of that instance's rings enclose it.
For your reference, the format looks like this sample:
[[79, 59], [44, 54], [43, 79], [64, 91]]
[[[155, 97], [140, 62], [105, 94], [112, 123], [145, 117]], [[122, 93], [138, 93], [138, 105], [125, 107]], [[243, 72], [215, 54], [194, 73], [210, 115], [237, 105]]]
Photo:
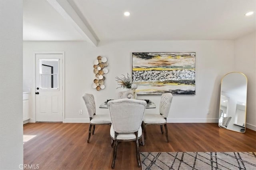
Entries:
[[46, 0], [23, 1], [23, 40], [83, 40]]

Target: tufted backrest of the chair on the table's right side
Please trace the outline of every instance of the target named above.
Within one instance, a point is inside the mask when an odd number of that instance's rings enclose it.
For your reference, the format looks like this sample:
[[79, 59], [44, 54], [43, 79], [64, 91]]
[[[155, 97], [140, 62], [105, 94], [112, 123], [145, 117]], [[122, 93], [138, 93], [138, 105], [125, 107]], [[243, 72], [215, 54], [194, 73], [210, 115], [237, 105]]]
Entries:
[[168, 117], [171, 104], [172, 104], [172, 94], [171, 93], [162, 94], [161, 100], [160, 100], [160, 114], [162, 114], [165, 118]]

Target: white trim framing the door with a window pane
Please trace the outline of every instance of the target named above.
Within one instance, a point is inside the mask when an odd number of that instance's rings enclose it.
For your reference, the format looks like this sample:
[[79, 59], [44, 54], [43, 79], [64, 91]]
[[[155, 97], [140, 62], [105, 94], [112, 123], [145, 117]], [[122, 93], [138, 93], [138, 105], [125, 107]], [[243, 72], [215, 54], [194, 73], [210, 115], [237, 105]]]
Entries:
[[32, 108], [30, 113], [30, 123], [36, 122], [36, 54], [62, 54], [62, 122], [65, 120], [65, 52], [64, 51], [42, 51], [33, 53], [33, 84], [31, 89]]

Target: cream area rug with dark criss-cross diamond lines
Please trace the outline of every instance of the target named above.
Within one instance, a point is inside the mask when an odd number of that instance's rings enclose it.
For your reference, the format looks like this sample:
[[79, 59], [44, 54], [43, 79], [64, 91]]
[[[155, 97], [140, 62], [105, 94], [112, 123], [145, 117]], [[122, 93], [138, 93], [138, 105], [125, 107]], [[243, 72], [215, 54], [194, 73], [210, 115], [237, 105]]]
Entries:
[[256, 170], [256, 152], [140, 152], [142, 170]]

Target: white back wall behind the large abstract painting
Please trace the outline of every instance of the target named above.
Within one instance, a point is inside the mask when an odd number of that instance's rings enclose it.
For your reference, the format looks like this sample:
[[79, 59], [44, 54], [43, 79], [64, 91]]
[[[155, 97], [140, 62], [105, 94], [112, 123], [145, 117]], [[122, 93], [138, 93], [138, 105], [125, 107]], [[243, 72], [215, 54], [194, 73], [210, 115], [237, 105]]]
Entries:
[[[218, 122], [221, 78], [234, 71], [233, 41], [120, 41], [101, 42], [98, 47], [86, 42], [24, 42], [24, 86], [32, 88], [32, 96], [34, 84], [29, 82], [34, 82], [34, 51], [65, 51], [65, 122], [89, 122], [84, 93], [94, 94], [97, 108], [106, 99], [118, 98], [118, 92], [124, 89], [116, 89], [115, 77], [127, 72], [131, 75], [132, 52], [196, 52], [196, 95], [174, 96], [168, 122]], [[106, 88], [100, 91], [91, 88], [93, 60], [98, 55], [108, 58], [109, 70]], [[159, 106], [160, 96], [138, 98], [151, 99]], [[108, 109], [98, 108], [96, 112], [108, 113]]]

